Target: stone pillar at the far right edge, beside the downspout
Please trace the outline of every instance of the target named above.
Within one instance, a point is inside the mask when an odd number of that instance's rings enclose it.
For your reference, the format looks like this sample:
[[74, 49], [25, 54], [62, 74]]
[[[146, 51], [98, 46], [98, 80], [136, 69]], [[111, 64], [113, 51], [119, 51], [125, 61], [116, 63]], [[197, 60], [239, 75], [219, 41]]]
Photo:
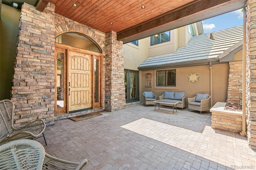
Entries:
[[246, 43], [247, 140], [250, 147], [256, 149], [256, 0], [247, 1]]

